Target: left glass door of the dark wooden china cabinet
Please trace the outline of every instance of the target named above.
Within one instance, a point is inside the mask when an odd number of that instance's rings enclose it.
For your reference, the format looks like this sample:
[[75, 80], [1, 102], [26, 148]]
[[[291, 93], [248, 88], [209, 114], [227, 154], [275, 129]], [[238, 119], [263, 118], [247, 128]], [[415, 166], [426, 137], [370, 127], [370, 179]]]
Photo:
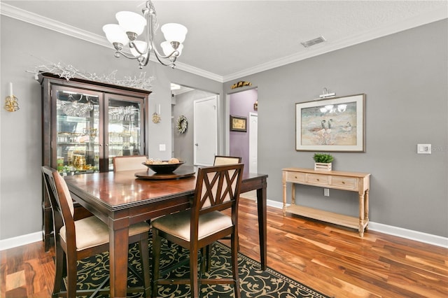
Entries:
[[55, 168], [67, 174], [99, 171], [102, 93], [53, 86], [52, 97], [56, 99], [53, 166], [56, 161]]

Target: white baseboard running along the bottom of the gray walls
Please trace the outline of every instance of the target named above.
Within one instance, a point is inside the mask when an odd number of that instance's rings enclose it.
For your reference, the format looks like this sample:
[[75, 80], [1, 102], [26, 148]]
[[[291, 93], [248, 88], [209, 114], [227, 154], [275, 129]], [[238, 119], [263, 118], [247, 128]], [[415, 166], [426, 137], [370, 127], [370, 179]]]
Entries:
[[[267, 200], [267, 206], [274, 208], [283, 208], [283, 203], [279, 201]], [[369, 222], [369, 229], [372, 231], [381, 232], [393, 236], [402, 237], [405, 239], [420, 241], [423, 243], [432, 244], [434, 246], [442, 246], [448, 248], [448, 238], [437, 236], [433, 234], [426, 234], [411, 229], [403, 229], [401, 227], [393, 227], [391, 225], [383, 225], [378, 222]], [[6, 250], [8, 248], [15, 248], [17, 246], [25, 246], [25, 244], [33, 243], [36, 241], [42, 241], [42, 232], [35, 232], [27, 235], [17, 236], [9, 239], [0, 240], [0, 250]]]

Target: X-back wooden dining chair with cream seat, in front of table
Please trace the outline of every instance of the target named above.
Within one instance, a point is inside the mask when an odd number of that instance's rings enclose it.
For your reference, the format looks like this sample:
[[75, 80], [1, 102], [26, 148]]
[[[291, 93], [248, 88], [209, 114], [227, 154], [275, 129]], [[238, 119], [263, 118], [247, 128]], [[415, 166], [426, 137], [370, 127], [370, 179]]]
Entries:
[[[152, 295], [157, 297], [158, 285], [190, 284], [191, 297], [199, 297], [201, 284], [233, 284], [235, 297], [241, 297], [238, 276], [238, 200], [244, 164], [207, 166], [199, 168], [192, 206], [186, 211], [155, 219], [153, 225]], [[221, 212], [231, 209], [231, 215]], [[232, 278], [202, 278], [204, 272], [201, 250], [214, 241], [231, 236]], [[162, 238], [189, 250], [190, 278], [160, 278], [160, 250]], [[200, 272], [197, 269], [201, 263]], [[165, 270], [164, 270], [165, 271]], [[198, 274], [201, 273], [201, 276]]]

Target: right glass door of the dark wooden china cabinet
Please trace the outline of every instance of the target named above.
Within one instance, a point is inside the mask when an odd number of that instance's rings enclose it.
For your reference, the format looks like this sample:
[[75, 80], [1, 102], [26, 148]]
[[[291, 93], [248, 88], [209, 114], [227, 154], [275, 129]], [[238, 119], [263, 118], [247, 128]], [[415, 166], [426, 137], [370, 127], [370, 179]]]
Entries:
[[144, 99], [106, 94], [106, 160], [113, 171], [113, 157], [144, 155]]

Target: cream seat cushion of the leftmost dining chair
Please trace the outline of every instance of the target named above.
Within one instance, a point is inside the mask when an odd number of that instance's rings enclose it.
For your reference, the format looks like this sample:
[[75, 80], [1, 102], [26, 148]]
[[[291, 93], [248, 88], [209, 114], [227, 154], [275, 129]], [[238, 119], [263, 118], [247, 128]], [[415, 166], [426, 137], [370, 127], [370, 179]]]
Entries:
[[[84, 250], [105, 243], [109, 243], [109, 228], [96, 216], [83, 218], [75, 221], [76, 229], [76, 250]], [[129, 227], [129, 235], [137, 235], [149, 231], [146, 222], [139, 222]], [[59, 236], [66, 241], [65, 226], [59, 230]]]

